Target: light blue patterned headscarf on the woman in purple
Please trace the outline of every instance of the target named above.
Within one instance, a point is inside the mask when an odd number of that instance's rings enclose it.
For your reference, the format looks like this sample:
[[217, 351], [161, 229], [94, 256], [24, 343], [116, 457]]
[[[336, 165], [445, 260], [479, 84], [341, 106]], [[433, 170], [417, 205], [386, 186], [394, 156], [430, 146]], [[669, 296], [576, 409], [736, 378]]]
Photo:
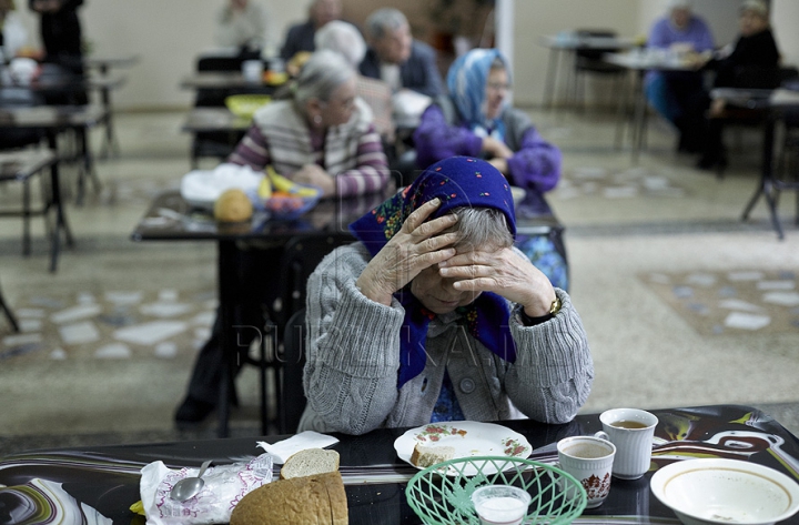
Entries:
[[[447, 73], [447, 90], [461, 117], [468, 128], [482, 134], [495, 134], [497, 139], [505, 138], [505, 124], [502, 119], [488, 120], [485, 117], [483, 103], [485, 102], [486, 82], [488, 72], [495, 59], [505, 64], [505, 71], [510, 75], [507, 59], [496, 49], [473, 49], [458, 57], [449, 67]], [[502, 112], [499, 113], [502, 115]]]

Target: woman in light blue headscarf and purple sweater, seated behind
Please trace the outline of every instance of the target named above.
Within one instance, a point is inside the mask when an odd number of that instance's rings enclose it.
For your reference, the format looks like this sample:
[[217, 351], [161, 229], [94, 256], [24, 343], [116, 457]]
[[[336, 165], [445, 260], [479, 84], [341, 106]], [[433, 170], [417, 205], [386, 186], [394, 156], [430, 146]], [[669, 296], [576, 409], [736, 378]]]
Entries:
[[[544, 194], [560, 179], [560, 150], [507, 103], [507, 59], [496, 49], [473, 49], [453, 62], [447, 88], [449, 94], [434, 99], [414, 132], [417, 166], [453, 155], [485, 158], [510, 184], [525, 189], [530, 209], [552, 213]], [[519, 235], [516, 246], [554, 285], [568, 289], [566, 260], [552, 240]]]

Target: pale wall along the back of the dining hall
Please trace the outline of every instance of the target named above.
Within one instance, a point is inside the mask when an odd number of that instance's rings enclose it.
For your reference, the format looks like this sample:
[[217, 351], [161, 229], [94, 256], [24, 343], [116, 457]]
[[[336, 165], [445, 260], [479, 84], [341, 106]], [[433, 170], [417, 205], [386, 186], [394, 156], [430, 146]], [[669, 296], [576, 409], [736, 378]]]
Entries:
[[[310, 0], [261, 0], [272, 13], [274, 41], [289, 23], [303, 20]], [[355, 22], [381, 6], [398, 6], [416, 28], [432, 0], [343, 0], [345, 18]], [[38, 42], [38, 19], [21, 4], [21, 14]], [[120, 109], [186, 107], [192, 93], [179, 88], [194, 68], [196, 54], [213, 46], [214, 17], [223, 0], [85, 0], [80, 11], [85, 36], [99, 54], [140, 55], [127, 71], [128, 84], [114, 93]], [[667, 0], [514, 0], [514, 98], [520, 105], [542, 103], [548, 51], [539, 38], [574, 28], [611, 28], [624, 37], [644, 37], [665, 12]], [[799, 1], [772, 0], [773, 26], [787, 63], [799, 64]], [[711, 27], [717, 44], [737, 33], [737, 0], [694, 0]], [[417, 23], [417, 21], [419, 23]], [[502, 37], [499, 37], [502, 38]], [[589, 82], [588, 97], [605, 101], [609, 85]]]

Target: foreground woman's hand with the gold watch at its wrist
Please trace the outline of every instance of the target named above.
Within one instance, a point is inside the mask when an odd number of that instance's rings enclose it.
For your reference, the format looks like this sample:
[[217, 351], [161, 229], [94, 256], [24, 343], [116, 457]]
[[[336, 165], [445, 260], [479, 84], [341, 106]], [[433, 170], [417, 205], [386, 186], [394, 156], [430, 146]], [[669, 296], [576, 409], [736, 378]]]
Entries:
[[494, 292], [523, 305], [530, 317], [546, 315], [555, 301], [547, 276], [510, 248], [458, 253], [438, 266], [442, 276], [458, 280], [456, 290]]

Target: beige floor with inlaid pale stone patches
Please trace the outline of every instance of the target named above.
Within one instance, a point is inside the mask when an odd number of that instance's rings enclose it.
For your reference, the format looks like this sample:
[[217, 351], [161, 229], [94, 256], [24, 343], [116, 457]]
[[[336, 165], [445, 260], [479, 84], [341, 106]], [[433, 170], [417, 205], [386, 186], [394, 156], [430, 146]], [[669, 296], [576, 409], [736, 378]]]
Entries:
[[[0, 454], [212, 435], [213, 421], [176, 434], [172, 414], [213, 310], [215, 248], [130, 240], [150, 198], [190, 170], [182, 117], [118, 117], [121, 155], [98, 163], [99, 194], [82, 206], [70, 201], [77, 244], [57, 274], [47, 270], [41, 221], [33, 221], [29, 258], [21, 255], [20, 221], [0, 221], [0, 284], [26, 330], [21, 343], [9, 344], [20, 336], [0, 320]], [[757, 182], [758, 137], [735, 141], [731, 168], [717, 179], [677, 157], [661, 123], [650, 125], [648, 149], [634, 165], [628, 148], [614, 149], [610, 117], [532, 117], [564, 152], [564, 180], [549, 200], [567, 228], [570, 293], [596, 365], [584, 411], [750, 404], [799, 434], [799, 314], [787, 304], [799, 272], [792, 195], [781, 203], [785, 241], [762, 203], [740, 221]], [[0, 205], [19, 192], [0, 186]], [[730, 275], [741, 272], [760, 272], [759, 282], [777, 289], [750, 283], [751, 291], [730, 295]], [[768, 284], [775, 282], [781, 284]], [[759, 302], [768, 293], [781, 294], [785, 315], [769, 314], [773, 322], [758, 330], [741, 325], [747, 315], [762, 317], [755, 309], [766, 307]], [[740, 302], [720, 305], [732, 300]], [[738, 322], [727, 323], [731, 313]], [[161, 336], [152, 324], [136, 331], [144, 323], [159, 323]], [[256, 384], [251, 371], [240, 378], [236, 435], [257, 434]]]

